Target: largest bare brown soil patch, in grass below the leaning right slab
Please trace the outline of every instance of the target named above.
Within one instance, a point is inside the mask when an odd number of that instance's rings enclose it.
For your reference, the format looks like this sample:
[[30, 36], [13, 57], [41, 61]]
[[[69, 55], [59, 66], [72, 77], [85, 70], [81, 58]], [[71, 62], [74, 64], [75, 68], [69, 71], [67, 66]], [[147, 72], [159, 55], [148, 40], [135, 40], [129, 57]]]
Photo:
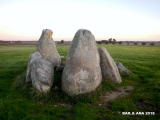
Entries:
[[96, 102], [94, 105], [106, 106], [108, 102], [113, 101], [117, 98], [124, 97], [134, 90], [133, 86], [125, 86], [117, 88], [116, 90], [106, 92], [101, 96], [101, 102]]

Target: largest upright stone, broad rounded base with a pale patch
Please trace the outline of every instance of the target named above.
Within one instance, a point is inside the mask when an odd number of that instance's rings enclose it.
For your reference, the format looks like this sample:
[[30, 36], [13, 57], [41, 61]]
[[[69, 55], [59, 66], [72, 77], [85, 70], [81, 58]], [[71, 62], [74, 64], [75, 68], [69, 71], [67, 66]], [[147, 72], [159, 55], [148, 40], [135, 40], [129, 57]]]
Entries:
[[74, 36], [62, 74], [62, 90], [74, 96], [95, 90], [101, 83], [100, 58], [95, 38], [80, 29]]

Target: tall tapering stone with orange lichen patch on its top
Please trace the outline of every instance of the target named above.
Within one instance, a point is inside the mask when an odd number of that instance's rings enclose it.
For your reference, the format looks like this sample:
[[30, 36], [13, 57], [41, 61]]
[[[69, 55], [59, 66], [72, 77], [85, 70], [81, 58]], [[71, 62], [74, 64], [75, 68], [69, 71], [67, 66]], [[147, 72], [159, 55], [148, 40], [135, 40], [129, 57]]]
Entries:
[[40, 52], [43, 59], [51, 61], [55, 67], [61, 64], [61, 58], [56, 49], [55, 42], [52, 39], [53, 32], [44, 29], [37, 44], [37, 51]]

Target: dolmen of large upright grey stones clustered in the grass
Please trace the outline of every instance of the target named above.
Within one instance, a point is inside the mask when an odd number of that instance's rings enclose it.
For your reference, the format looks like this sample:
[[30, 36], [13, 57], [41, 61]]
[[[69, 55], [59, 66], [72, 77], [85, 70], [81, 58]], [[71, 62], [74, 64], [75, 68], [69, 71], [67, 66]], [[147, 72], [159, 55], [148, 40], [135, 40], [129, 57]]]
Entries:
[[54, 70], [61, 70], [61, 88], [69, 96], [95, 91], [105, 80], [122, 82], [115, 61], [106, 48], [97, 49], [95, 37], [89, 30], [76, 32], [65, 63], [61, 62], [52, 34], [49, 29], [42, 31], [36, 51], [28, 60], [26, 82], [31, 82], [38, 92], [51, 90]]

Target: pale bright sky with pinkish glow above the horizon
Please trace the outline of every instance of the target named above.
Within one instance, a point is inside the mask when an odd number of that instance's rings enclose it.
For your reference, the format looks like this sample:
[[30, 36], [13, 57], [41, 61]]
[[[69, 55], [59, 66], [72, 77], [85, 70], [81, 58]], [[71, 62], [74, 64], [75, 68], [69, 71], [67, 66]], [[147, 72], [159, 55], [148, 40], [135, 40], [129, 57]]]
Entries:
[[96, 40], [160, 41], [160, 0], [0, 0], [0, 40], [72, 40], [88, 29]]

